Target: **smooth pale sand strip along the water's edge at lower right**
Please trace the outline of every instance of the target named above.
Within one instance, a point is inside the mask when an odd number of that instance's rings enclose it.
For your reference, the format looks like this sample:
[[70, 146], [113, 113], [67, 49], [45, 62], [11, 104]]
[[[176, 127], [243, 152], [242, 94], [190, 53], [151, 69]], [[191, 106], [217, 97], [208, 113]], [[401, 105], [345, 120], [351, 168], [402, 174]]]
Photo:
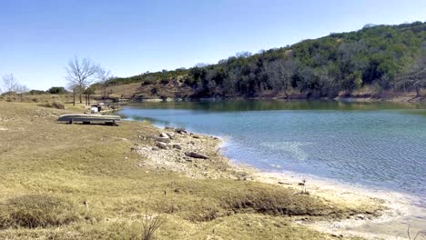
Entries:
[[308, 226], [322, 233], [360, 236], [366, 239], [407, 239], [406, 233], [409, 225], [413, 232], [424, 231], [426, 208], [415, 205], [415, 203], [421, 201], [419, 196], [385, 189], [373, 189], [367, 186], [350, 185], [317, 175], [291, 171], [262, 171], [254, 166], [244, 165], [237, 160], [228, 159], [228, 161], [230, 165], [234, 165], [242, 171], [249, 171], [251, 175], [254, 175], [254, 181], [270, 185], [283, 185], [298, 190], [299, 182], [306, 179], [306, 188], [311, 195], [320, 196], [332, 202], [350, 203], [354, 206], [361, 206], [366, 201], [372, 201], [374, 204], [386, 208], [381, 215], [375, 217], [355, 216], [354, 219], [334, 222], [296, 222], [299, 225]]

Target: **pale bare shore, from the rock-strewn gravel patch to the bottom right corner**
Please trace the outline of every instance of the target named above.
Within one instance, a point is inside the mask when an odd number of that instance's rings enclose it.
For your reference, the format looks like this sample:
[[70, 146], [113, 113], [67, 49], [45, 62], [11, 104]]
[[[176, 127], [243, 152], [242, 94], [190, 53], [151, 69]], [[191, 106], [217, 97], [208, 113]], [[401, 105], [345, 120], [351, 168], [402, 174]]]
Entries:
[[[161, 129], [161, 135], [166, 136], [164, 145], [158, 145], [156, 136], [139, 137], [151, 138], [151, 145], [137, 146], [137, 153], [143, 155], [147, 161], [139, 166], [150, 166], [157, 169], [167, 169], [178, 172], [194, 179], [200, 178], [228, 178], [242, 181], [258, 181], [280, 187], [294, 189], [295, 194], [301, 191], [302, 179], [306, 179], [306, 189], [310, 195], [319, 196], [326, 201], [353, 208], [371, 209], [380, 208], [380, 214], [353, 215], [347, 220], [330, 221], [295, 221], [299, 225], [306, 225], [320, 232], [333, 235], [360, 236], [367, 239], [408, 239], [407, 228], [411, 225], [411, 232], [424, 230], [426, 218], [425, 209], [411, 205], [406, 195], [396, 192], [379, 192], [363, 189], [356, 186], [331, 182], [313, 175], [300, 175], [291, 172], [265, 173], [250, 167], [229, 161], [221, 153], [223, 140], [215, 136], [198, 135], [180, 132], [174, 128]], [[199, 159], [188, 156], [188, 153], [198, 153], [208, 159]], [[214, 161], [211, 159], [215, 159]], [[368, 211], [367, 211], [368, 213]], [[420, 217], [420, 218], [419, 218]], [[423, 225], [424, 224], [424, 225]]]

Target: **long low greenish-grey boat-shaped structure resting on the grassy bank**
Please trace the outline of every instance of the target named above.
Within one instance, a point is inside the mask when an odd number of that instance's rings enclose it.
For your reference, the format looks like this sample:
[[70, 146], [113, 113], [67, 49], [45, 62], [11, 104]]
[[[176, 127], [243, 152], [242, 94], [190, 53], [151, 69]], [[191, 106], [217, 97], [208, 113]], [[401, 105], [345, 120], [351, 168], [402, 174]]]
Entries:
[[83, 123], [89, 125], [91, 123], [104, 123], [106, 125], [117, 125], [121, 122], [119, 115], [81, 115], [81, 114], [70, 114], [60, 115], [57, 119], [58, 122], [66, 122], [69, 124]]

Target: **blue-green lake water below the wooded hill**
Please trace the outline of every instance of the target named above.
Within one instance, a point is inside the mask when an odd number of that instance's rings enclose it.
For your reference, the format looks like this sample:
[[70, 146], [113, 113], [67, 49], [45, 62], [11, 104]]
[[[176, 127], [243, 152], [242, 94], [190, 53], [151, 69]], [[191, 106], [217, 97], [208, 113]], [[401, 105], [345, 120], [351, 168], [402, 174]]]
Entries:
[[143, 103], [129, 105], [120, 114], [224, 137], [225, 155], [262, 170], [318, 175], [426, 197], [425, 105]]

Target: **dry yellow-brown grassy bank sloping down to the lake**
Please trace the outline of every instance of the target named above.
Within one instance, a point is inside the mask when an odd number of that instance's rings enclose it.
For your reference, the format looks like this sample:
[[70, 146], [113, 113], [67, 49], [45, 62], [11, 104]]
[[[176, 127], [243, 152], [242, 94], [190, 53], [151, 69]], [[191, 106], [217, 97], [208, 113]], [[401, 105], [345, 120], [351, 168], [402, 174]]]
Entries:
[[[209, 155], [188, 160], [186, 145], [152, 150], [161, 130], [147, 123], [57, 124], [84, 110], [66, 107], [0, 101], [2, 239], [141, 239], [157, 215], [166, 219], [157, 239], [338, 239], [293, 222], [380, 212], [240, 177], [208, 136], [175, 138]], [[171, 156], [187, 173], [153, 162]]]

